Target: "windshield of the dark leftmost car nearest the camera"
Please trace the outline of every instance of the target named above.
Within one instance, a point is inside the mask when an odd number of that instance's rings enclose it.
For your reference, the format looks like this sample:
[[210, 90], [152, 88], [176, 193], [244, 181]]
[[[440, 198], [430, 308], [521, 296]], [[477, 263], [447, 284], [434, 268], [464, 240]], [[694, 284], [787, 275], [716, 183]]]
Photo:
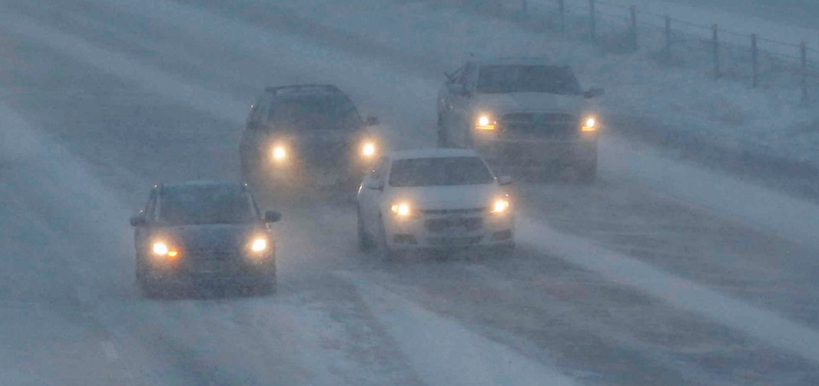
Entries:
[[167, 187], [160, 196], [164, 225], [241, 224], [254, 218], [250, 195], [236, 186]]

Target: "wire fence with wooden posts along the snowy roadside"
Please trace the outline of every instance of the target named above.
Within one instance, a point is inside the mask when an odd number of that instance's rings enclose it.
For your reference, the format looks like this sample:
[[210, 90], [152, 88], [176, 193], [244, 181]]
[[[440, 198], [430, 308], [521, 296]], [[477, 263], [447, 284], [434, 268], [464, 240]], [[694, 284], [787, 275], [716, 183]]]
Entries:
[[819, 96], [819, 49], [699, 25], [604, 0], [467, 0], [495, 15], [585, 40], [606, 52], [645, 52], [664, 65], [699, 68], [753, 88], [789, 88], [803, 103]]

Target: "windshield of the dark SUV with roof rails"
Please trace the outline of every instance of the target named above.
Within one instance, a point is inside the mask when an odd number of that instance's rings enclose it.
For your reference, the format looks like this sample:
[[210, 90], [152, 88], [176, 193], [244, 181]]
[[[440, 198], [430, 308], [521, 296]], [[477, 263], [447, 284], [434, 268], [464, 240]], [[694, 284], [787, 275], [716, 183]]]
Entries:
[[362, 124], [355, 105], [344, 96], [303, 96], [274, 102], [269, 123], [285, 130], [350, 130]]

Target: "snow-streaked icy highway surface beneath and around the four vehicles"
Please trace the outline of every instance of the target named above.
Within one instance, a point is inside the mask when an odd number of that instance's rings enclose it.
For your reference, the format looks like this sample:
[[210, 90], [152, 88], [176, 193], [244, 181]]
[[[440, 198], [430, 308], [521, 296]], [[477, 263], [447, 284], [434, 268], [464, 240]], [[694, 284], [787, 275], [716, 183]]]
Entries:
[[384, 263], [350, 204], [294, 205], [275, 296], [141, 298], [129, 214], [238, 177], [265, 85], [337, 83], [394, 146], [434, 143], [440, 79], [303, 32], [3, 2], [0, 384], [819, 384], [817, 209], [612, 137], [595, 186], [517, 187], [514, 255]]

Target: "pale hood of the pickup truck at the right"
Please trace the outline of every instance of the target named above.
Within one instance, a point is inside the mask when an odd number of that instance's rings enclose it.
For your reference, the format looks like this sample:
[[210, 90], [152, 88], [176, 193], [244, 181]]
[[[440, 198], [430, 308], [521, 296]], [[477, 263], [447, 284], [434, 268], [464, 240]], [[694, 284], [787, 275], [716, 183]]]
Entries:
[[586, 109], [582, 96], [558, 95], [545, 92], [507, 92], [503, 94], [475, 94], [473, 107], [487, 113], [512, 112], [567, 112], [580, 114]]

